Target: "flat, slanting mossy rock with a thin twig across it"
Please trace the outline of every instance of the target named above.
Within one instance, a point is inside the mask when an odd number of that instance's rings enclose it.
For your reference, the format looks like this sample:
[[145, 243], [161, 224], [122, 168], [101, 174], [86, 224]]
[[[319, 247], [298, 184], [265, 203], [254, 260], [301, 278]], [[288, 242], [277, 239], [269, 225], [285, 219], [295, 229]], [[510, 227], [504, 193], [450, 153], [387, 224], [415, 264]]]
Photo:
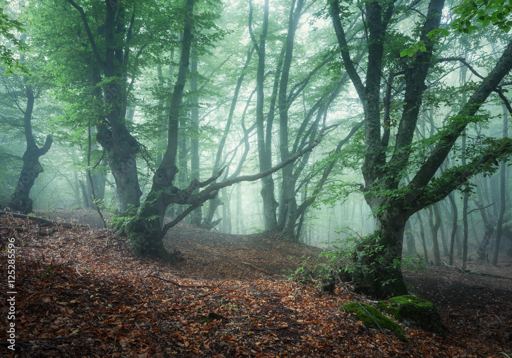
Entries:
[[[408, 342], [403, 335], [402, 328], [391, 318], [385, 316], [373, 306], [365, 303], [347, 302], [342, 306], [342, 311], [355, 313], [357, 318], [366, 326], [377, 330], [388, 329], [402, 341]], [[371, 317], [370, 317], [371, 315]]]

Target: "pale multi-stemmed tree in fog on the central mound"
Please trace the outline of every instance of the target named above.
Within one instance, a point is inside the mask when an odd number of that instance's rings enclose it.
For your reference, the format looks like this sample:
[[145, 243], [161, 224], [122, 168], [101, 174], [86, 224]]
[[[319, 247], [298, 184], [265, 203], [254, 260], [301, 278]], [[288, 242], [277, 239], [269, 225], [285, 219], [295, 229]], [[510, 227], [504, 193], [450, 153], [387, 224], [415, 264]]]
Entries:
[[[302, 19], [307, 17], [308, 12], [314, 11], [315, 3], [293, 1], [282, 5], [286, 6], [282, 6], [281, 11], [287, 18], [279, 21], [274, 16], [272, 20], [276, 24], [269, 24], [269, 4], [263, 4], [263, 19], [257, 31], [253, 26], [253, 22], [256, 22], [253, 21], [254, 6], [249, 2], [248, 32], [258, 55], [255, 116], [260, 170], [270, 167], [274, 155], [284, 160], [301, 151], [320, 130], [330, 127], [326, 124], [327, 115], [347, 80], [344, 75], [327, 75], [335, 62], [336, 53], [332, 49], [311, 48], [310, 44], [315, 43], [316, 39], [324, 40], [322, 34], [317, 32], [315, 40], [309, 39], [309, 43], [304, 39], [301, 41], [298, 35], [304, 26]], [[286, 32], [281, 37], [268, 35], [283, 32], [283, 29]], [[274, 50], [272, 56], [273, 47], [278, 47], [280, 51]], [[302, 51], [297, 51], [297, 48]], [[272, 78], [270, 91], [265, 86], [267, 77]], [[267, 91], [270, 96], [266, 95]], [[354, 133], [355, 130], [351, 131], [347, 139], [338, 144], [332, 161], [322, 174], [323, 179], [314, 186], [314, 193], [305, 196], [302, 201], [297, 198], [297, 193], [313, 178], [310, 173], [305, 173], [309, 153], [300, 161], [283, 168], [278, 186], [270, 176], [262, 180], [266, 231], [280, 231], [286, 237], [298, 238], [306, 209], [314, 203], [337, 161], [337, 154]], [[273, 139], [277, 142], [275, 154], [272, 151]], [[279, 201], [276, 201], [276, 187], [279, 189]]]

